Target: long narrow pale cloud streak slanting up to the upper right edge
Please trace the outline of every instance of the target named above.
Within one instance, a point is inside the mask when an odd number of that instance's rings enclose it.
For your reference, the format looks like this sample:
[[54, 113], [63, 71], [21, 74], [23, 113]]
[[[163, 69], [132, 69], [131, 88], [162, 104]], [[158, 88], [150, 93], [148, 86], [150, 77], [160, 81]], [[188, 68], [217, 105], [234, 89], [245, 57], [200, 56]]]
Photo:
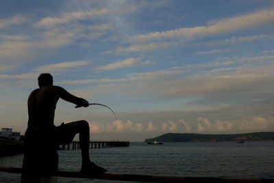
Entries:
[[274, 21], [274, 9], [260, 10], [251, 14], [235, 16], [219, 21], [214, 21], [209, 25], [198, 27], [174, 29], [170, 31], [158, 31], [147, 34], [132, 36], [132, 40], [166, 40], [166, 39], [192, 39], [201, 36], [210, 36], [220, 33], [229, 33]]

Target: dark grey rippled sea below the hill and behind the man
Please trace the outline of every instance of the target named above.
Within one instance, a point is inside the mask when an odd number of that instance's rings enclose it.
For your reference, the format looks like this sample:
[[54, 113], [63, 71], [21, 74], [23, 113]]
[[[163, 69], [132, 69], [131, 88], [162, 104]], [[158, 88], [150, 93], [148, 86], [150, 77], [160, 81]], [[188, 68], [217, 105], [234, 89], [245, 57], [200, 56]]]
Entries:
[[[80, 150], [59, 150], [59, 169], [79, 171]], [[108, 173], [208, 178], [274, 179], [274, 141], [169, 142], [90, 150], [93, 162]], [[0, 157], [0, 166], [21, 167], [23, 154]], [[0, 182], [20, 182], [20, 174], [0, 172]], [[58, 182], [123, 182], [58, 178]]]

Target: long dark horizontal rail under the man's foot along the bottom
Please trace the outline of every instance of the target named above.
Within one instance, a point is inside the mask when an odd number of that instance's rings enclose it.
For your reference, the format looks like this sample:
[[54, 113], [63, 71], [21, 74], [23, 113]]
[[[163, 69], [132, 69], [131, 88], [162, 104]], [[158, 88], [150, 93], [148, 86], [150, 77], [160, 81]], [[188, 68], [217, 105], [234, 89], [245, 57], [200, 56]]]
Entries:
[[[0, 171], [10, 173], [22, 173], [21, 168], [14, 167], [0, 167]], [[100, 173], [95, 175], [83, 175], [76, 171], [58, 171], [57, 177], [66, 178], [89, 178], [99, 180], [121, 180], [121, 181], [134, 181], [134, 182], [273, 182], [273, 179], [258, 179], [258, 178], [195, 178], [195, 177], [179, 177], [179, 176], [161, 176], [161, 175], [131, 175], [131, 174], [118, 174], [118, 173]]]

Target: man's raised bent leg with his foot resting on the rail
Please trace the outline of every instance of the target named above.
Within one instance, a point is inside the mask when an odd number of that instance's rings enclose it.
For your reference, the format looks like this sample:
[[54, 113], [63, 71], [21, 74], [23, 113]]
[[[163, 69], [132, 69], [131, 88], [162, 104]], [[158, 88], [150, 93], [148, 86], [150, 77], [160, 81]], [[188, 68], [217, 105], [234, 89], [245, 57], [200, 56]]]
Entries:
[[69, 143], [73, 140], [75, 135], [79, 133], [79, 141], [81, 145], [82, 154], [82, 169], [83, 173], [102, 173], [106, 170], [102, 167], [92, 163], [89, 156], [90, 145], [90, 128], [88, 122], [81, 120], [77, 122], [71, 122], [68, 124], [62, 124], [56, 127], [59, 133], [58, 137], [61, 139], [59, 143]]

